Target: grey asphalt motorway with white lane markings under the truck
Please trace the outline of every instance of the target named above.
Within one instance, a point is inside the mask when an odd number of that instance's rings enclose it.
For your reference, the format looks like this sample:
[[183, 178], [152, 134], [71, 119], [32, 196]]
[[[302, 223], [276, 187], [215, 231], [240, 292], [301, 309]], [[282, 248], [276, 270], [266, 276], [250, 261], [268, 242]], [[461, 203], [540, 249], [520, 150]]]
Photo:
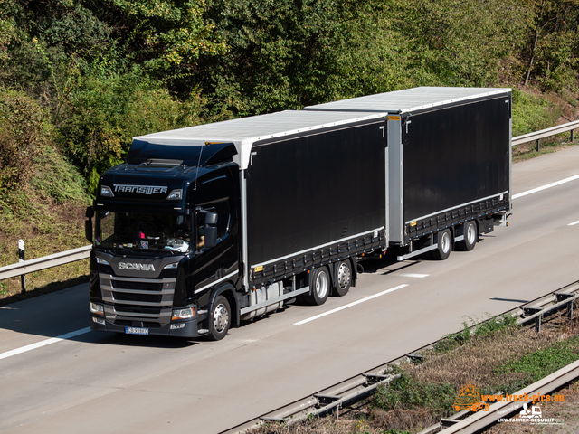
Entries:
[[473, 251], [366, 262], [346, 297], [218, 343], [86, 332], [86, 285], [0, 307], [0, 431], [218, 432], [572, 283], [579, 179], [517, 194], [575, 175], [579, 146], [518, 163], [509, 226]]

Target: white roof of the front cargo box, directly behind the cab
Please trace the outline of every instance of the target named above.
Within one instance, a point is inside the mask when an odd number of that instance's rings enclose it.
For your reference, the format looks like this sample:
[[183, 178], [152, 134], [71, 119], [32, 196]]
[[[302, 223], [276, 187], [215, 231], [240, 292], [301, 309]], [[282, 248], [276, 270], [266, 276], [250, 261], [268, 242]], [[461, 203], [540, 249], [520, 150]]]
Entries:
[[242, 169], [249, 165], [253, 143], [260, 140], [346, 125], [352, 122], [381, 118], [380, 113], [357, 114], [340, 111], [280, 111], [267, 115], [225, 120], [133, 137], [157, 145], [204, 146], [207, 143], [233, 143], [237, 148], [235, 162]]

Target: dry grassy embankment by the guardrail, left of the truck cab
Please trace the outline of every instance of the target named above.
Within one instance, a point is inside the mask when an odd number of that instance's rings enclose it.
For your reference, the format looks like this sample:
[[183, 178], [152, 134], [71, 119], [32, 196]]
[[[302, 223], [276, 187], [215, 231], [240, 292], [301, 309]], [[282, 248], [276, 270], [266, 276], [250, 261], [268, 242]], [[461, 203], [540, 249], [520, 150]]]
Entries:
[[[0, 266], [18, 261], [18, 240], [24, 240], [26, 259], [87, 245], [84, 213], [90, 203], [77, 169], [52, 147], [35, 156], [30, 186], [0, 201]], [[20, 278], [0, 281], [0, 306], [88, 281], [88, 261], [45, 269], [26, 275], [27, 292]]]

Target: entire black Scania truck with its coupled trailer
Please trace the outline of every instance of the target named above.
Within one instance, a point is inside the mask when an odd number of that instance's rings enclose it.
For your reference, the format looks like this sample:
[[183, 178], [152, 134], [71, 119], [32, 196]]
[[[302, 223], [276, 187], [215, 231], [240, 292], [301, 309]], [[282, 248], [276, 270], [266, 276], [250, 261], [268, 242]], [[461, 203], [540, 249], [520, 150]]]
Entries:
[[[87, 211], [90, 325], [207, 335], [505, 224], [511, 91], [416, 88], [134, 137]], [[94, 218], [94, 232], [92, 231]]]

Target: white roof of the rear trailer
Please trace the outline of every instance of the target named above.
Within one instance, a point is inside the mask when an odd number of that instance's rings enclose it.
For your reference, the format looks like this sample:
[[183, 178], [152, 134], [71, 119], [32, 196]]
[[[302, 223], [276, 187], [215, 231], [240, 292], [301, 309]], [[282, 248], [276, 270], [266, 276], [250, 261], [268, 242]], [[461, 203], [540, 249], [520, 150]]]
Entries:
[[306, 110], [412, 113], [421, 109], [429, 109], [509, 91], [511, 91], [509, 88], [422, 87], [327, 102], [306, 107]]

